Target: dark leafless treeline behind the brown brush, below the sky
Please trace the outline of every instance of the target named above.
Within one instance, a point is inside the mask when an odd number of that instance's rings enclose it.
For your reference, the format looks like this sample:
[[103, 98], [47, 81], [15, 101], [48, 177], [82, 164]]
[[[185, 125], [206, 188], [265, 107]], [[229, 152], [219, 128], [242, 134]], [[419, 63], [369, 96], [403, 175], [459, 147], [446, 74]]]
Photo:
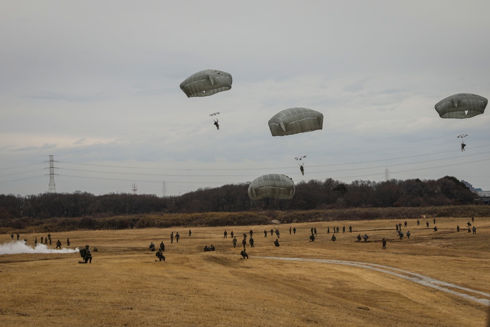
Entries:
[[344, 184], [328, 178], [299, 182], [292, 200], [251, 201], [248, 183], [198, 189], [181, 196], [86, 192], [0, 195], [0, 220], [112, 217], [150, 213], [261, 212], [377, 207], [428, 207], [477, 204], [476, 195], [455, 177], [438, 180], [355, 180]]

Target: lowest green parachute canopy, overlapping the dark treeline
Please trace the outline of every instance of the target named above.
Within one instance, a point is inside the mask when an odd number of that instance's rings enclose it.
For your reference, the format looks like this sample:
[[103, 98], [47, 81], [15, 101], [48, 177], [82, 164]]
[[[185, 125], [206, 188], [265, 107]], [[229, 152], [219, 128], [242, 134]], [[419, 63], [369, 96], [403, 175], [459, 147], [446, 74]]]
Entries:
[[250, 200], [264, 198], [293, 199], [293, 179], [286, 175], [268, 174], [255, 178], [248, 186], [248, 197]]

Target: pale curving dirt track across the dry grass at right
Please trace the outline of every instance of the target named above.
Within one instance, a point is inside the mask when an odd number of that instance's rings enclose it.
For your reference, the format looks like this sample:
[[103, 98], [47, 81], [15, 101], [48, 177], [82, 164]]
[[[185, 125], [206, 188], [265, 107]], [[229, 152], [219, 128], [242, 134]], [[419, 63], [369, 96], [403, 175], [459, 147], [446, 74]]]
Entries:
[[[354, 266], [359, 268], [366, 268], [370, 270], [374, 270], [380, 273], [390, 274], [392, 276], [396, 276], [399, 278], [403, 278], [406, 280], [410, 280], [414, 283], [424, 285], [427, 287], [431, 287], [437, 289], [442, 292], [446, 292], [461, 298], [464, 298], [469, 301], [478, 302], [484, 305], [490, 305], [490, 294], [472, 290], [467, 287], [459, 286], [456, 284], [448, 283], [442, 280], [438, 280], [435, 278], [427, 277], [421, 274], [412, 273], [406, 270], [401, 270], [397, 268], [392, 268], [388, 266], [378, 265], [374, 263], [366, 263], [366, 262], [357, 262], [357, 261], [343, 261], [343, 260], [332, 260], [332, 259], [308, 259], [308, 258], [285, 258], [285, 257], [273, 257], [273, 256], [254, 256], [255, 258], [264, 258], [264, 259], [276, 259], [276, 260], [288, 260], [288, 261], [309, 261], [309, 262], [319, 262], [326, 264], [335, 264], [335, 265], [346, 265], [346, 266]], [[469, 293], [469, 294], [468, 294]], [[471, 295], [473, 294], [473, 295]], [[481, 297], [477, 297], [476, 295], [480, 295]]]

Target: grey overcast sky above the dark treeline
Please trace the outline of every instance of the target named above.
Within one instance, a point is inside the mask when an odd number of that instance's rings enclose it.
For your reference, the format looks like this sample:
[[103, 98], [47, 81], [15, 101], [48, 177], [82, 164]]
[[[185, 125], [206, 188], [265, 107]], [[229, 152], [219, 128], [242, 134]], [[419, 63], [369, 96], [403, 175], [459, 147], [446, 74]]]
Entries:
[[[434, 109], [490, 97], [489, 12], [487, 0], [1, 1], [0, 194], [48, 192], [49, 155], [59, 193], [387, 169], [490, 190], [490, 113]], [[179, 84], [204, 69], [230, 73], [231, 90], [187, 98]], [[323, 113], [323, 129], [272, 137], [269, 119], [295, 106]]]

